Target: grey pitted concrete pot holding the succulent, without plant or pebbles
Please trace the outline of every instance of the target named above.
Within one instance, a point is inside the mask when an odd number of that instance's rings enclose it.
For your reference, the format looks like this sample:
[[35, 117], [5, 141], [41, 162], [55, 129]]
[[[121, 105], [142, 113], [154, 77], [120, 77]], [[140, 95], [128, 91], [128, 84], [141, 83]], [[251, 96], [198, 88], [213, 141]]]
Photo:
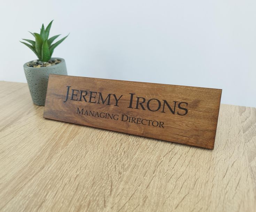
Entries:
[[33, 103], [36, 105], [45, 105], [45, 97], [48, 85], [49, 74], [60, 74], [67, 75], [67, 67], [65, 60], [62, 58], [51, 58], [59, 59], [61, 62], [57, 65], [50, 67], [33, 68], [27, 66], [27, 62], [24, 64], [24, 72], [28, 81], [30, 94]]

